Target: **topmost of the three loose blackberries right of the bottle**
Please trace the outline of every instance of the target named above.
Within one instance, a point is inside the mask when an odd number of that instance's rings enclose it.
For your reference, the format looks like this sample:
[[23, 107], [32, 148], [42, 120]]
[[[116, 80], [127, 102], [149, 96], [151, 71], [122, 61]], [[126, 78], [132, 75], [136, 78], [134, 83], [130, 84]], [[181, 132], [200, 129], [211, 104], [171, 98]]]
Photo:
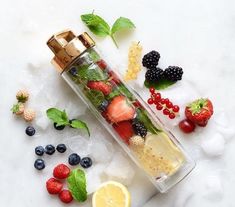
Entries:
[[160, 59], [160, 54], [157, 51], [153, 50], [144, 55], [142, 59], [142, 64], [144, 67], [148, 69], [155, 69], [158, 65], [159, 59]]

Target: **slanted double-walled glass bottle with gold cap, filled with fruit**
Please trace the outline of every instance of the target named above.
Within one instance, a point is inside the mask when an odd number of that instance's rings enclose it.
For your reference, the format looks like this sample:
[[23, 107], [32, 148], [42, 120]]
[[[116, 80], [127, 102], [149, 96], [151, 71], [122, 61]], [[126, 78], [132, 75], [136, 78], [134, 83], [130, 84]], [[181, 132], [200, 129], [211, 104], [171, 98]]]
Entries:
[[53, 35], [47, 45], [63, 79], [160, 192], [192, 171], [195, 162], [141, 97], [111, 70], [87, 33], [76, 36], [66, 30]]

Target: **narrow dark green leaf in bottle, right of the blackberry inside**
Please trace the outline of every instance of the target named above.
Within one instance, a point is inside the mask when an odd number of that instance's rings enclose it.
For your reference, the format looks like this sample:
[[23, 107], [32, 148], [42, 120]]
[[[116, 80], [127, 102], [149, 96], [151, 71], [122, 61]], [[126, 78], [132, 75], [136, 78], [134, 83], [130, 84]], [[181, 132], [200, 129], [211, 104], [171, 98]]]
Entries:
[[162, 131], [153, 125], [145, 109], [137, 109], [136, 111], [137, 111], [137, 119], [140, 120], [151, 133], [157, 134]]

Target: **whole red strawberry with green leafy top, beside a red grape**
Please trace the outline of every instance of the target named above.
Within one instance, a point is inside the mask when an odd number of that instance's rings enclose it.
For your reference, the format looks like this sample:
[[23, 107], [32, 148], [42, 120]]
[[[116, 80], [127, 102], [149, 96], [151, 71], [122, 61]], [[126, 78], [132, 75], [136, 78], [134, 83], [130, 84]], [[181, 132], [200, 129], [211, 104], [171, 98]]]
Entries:
[[199, 126], [206, 126], [213, 114], [213, 105], [209, 99], [201, 98], [185, 108], [185, 116]]

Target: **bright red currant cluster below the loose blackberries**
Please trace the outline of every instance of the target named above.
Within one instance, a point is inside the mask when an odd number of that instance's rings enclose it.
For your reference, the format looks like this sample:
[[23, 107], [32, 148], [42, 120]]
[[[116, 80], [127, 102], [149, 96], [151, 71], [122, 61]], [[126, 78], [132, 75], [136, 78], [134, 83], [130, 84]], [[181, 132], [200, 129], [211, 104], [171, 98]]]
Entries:
[[156, 109], [161, 111], [163, 114], [168, 116], [170, 119], [174, 119], [178, 114], [180, 107], [178, 105], [173, 105], [173, 103], [168, 98], [162, 98], [159, 92], [155, 92], [154, 88], [149, 89], [151, 97], [148, 99], [148, 104], [156, 105]]

